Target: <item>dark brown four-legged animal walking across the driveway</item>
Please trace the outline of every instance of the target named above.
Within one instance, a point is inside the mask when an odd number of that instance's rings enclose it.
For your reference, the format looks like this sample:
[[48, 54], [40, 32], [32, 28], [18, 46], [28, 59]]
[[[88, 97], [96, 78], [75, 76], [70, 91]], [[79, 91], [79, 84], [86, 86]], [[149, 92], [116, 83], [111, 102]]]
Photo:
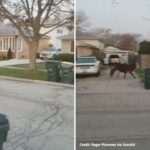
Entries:
[[126, 78], [127, 73], [130, 73], [133, 78], [136, 78], [133, 74], [134, 69], [136, 69], [136, 64], [114, 64], [110, 71], [110, 76], [112, 77], [116, 71], [119, 71], [124, 73], [124, 78]]

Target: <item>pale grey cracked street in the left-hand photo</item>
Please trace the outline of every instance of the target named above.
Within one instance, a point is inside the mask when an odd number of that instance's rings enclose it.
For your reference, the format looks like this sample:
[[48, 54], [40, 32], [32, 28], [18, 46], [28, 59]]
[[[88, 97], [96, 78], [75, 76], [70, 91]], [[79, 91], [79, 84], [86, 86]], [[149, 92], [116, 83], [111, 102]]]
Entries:
[[0, 113], [10, 122], [4, 150], [73, 150], [74, 89], [0, 79]]

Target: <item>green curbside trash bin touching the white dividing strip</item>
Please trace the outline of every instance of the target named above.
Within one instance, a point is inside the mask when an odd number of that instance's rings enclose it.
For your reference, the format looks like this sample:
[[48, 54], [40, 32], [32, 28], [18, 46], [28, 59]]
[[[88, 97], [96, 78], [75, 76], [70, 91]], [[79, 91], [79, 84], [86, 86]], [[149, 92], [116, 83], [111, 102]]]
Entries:
[[74, 83], [74, 71], [73, 66], [71, 67], [63, 67], [61, 66], [60, 77], [62, 83]]

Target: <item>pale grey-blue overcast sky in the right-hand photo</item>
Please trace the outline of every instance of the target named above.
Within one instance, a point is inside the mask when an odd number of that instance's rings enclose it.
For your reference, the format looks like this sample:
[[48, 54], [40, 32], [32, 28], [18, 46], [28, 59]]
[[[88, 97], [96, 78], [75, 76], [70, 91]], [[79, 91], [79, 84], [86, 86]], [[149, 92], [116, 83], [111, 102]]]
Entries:
[[[150, 39], [150, 0], [76, 0], [77, 11], [89, 16], [93, 27], [113, 33], [140, 33]], [[149, 18], [147, 21], [144, 18]]]

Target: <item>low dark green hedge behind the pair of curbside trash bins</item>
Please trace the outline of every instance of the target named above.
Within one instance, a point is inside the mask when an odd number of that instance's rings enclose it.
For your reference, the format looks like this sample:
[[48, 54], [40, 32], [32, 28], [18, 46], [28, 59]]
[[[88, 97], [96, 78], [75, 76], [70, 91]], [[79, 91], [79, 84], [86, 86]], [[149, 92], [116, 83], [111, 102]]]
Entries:
[[59, 55], [55, 55], [53, 60], [61, 60], [61, 61], [67, 61], [67, 62], [74, 62], [74, 54], [69, 54], [69, 53], [62, 53]]

